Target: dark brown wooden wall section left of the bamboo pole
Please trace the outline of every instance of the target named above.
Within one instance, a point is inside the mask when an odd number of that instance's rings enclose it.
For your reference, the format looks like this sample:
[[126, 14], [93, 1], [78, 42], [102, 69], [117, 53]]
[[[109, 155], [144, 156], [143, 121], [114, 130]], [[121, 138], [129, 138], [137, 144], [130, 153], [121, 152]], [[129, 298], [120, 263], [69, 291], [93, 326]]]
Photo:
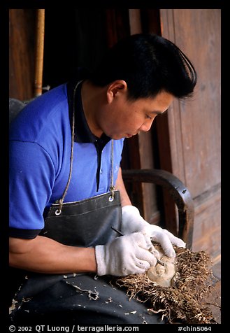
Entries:
[[36, 10], [9, 10], [9, 92], [10, 97], [34, 97]]

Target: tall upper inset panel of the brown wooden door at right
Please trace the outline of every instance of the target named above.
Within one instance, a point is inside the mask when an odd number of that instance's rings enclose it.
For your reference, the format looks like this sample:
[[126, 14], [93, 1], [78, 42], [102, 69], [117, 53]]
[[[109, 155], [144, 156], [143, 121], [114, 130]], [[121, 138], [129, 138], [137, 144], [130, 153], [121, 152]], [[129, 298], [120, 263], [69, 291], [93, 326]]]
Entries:
[[180, 103], [185, 178], [196, 197], [220, 183], [220, 12], [174, 10], [174, 22], [175, 41], [198, 73], [194, 98]]

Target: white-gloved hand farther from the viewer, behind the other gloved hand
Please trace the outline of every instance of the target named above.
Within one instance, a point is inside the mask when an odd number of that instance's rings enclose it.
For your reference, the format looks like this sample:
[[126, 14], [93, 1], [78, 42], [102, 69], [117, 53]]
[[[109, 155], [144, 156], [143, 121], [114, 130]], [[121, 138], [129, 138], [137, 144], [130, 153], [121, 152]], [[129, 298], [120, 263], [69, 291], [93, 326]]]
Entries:
[[132, 232], [142, 232], [151, 237], [152, 241], [161, 244], [164, 254], [168, 257], [175, 257], [173, 245], [185, 248], [186, 244], [182, 239], [175, 237], [171, 232], [162, 229], [157, 225], [150, 225], [145, 221], [135, 206], [122, 207], [122, 234], [131, 234]]

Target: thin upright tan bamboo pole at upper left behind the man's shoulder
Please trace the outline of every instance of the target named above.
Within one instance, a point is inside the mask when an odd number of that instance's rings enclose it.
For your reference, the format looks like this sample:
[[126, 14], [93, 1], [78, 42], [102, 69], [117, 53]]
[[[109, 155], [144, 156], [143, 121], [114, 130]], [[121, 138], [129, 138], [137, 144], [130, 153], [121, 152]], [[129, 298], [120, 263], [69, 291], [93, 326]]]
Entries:
[[34, 80], [35, 97], [42, 94], [44, 34], [45, 34], [45, 9], [38, 9], [37, 35], [36, 35], [35, 80]]

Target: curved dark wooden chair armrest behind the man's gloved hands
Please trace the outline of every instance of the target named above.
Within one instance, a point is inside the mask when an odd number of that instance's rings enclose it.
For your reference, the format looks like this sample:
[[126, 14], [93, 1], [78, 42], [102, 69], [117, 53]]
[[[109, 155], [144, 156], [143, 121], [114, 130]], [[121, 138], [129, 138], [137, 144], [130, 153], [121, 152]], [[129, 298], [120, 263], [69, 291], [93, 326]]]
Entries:
[[139, 183], [154, 183], [168, 190], [168, 194], [178, 207], [178, 237], [192, 248], [194, 227], [194, 201], [184, 183], [172, 173], [159, 169], [123, 170], [124, 181]]

